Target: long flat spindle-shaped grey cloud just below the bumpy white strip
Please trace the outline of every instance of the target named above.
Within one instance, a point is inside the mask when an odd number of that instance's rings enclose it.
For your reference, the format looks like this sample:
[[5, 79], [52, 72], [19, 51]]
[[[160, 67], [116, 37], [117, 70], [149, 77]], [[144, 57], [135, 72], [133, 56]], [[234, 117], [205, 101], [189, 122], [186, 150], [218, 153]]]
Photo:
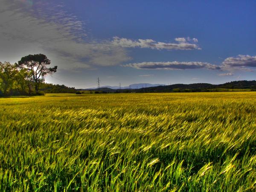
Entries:
[[142, 62], [124, 65], [125, 67], [134, 67], [137, 69], [168, 69], [168, 70], [186, 70], [186, 69], [203, 69], [220, 70], [221, 68], [214, 64], [204, 62]]

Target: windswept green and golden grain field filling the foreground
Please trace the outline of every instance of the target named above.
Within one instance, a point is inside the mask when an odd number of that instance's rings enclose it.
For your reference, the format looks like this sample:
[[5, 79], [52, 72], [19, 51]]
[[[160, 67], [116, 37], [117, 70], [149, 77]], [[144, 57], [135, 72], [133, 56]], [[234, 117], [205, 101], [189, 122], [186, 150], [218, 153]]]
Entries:
[[255, 190], [255, 92], [0, 99], [0, 191]]

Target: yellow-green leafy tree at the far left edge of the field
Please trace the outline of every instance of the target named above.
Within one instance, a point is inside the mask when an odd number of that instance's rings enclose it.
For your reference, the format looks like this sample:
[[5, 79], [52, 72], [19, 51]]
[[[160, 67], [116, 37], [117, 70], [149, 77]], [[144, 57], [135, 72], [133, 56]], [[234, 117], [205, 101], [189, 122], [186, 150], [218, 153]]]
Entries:
[[11, 95], [18, 73], [19, 70], [15, 65], [6, 61], [4, 63], [0, 62], [0, 90], [3, 95]]

